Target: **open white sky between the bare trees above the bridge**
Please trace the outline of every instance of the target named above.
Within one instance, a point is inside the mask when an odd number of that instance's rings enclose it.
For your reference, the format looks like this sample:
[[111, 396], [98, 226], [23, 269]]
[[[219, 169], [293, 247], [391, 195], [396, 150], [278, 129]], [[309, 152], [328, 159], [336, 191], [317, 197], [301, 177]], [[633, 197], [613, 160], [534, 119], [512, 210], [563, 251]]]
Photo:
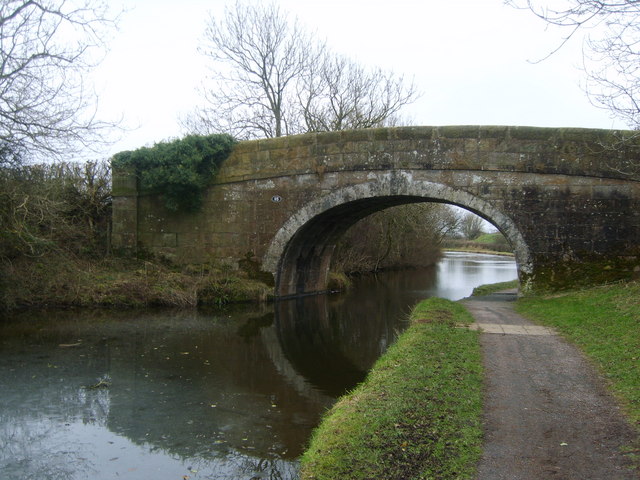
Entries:
[[[117, 5], [118, 2], [113, 2]], [[120, 0], [128, 10], [95, 72], [101, 112], [131, 128], [106, 155], [183, 135], [200, 101], [208, 12], [233, 0]], [[338, 53], [414, 78], [415, 125], [625, 128], [580, 85], [581, 42], [541, 63], [560, 33], [503, 0], [279, 0]]]

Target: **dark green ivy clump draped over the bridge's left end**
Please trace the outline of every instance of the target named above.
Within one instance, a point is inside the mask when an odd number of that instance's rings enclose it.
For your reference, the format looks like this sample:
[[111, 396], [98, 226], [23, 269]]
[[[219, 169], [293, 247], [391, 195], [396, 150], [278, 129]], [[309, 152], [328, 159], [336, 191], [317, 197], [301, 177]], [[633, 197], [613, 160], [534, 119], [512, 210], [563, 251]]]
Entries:
[[171, 211], [197, 211], [204, 191], [229, 156], [236, 140], [230, 135], [188, 135], [114, 155], [114, 168], [136, 171], [140, 187], [162, 193]]

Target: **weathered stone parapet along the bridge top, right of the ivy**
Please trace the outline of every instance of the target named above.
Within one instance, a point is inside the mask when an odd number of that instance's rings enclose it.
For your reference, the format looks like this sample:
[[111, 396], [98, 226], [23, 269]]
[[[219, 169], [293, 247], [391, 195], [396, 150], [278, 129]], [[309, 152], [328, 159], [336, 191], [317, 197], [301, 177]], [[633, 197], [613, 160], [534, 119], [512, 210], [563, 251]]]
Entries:
[[510, 126], [346, 130], [238, 144], [215, 183], [349, 170], [480, 170], [640, 180], [640, 132]]

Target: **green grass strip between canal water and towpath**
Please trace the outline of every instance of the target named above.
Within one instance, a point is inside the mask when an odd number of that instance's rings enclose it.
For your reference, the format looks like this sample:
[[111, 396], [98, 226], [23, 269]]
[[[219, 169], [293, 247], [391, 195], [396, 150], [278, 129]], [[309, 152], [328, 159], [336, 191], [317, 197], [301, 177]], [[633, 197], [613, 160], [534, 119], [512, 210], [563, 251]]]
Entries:
[[432, 298], [315, 431], [303, 479], [472, 478], [480, 455], [478, 333], [459, 304]]

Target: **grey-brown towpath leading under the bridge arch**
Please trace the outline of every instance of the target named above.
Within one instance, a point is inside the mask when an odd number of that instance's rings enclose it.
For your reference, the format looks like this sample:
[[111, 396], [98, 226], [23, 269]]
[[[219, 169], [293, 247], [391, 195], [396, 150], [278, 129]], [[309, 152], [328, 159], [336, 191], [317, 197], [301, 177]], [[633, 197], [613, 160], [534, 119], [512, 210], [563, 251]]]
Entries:
[[[516, 314], [515, 294], [464, 301], [486, 369], [478, 480], [626, 480], [634, 431], [578, 350]], [[493, 333], [490, 333], [493, 332]]]

